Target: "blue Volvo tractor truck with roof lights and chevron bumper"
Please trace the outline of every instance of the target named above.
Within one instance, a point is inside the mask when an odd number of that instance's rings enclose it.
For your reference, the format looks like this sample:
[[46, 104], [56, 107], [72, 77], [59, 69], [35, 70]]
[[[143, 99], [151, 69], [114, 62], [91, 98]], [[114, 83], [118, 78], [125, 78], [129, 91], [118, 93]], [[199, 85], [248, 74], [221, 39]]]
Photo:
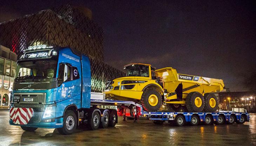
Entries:
[[18, 60], [9, 123], [71, 134], [81, 124], [91, 130], [115, 126], [117, 105], [140, 106], [92, 92], [90, 57], [72, 48], [28, 47]]

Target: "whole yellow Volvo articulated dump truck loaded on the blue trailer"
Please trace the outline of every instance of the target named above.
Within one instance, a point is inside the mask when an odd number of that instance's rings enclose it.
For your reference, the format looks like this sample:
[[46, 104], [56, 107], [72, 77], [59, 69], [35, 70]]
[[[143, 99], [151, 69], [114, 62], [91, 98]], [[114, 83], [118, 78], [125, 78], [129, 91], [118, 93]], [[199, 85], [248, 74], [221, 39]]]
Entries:
[[171, 67], [156, 70], [150, 64], [131, 63], [124, 69], [126, 77], [106, 83], [106, 97], [134, 101], [146, 111], [166, 104], [175, 112], [215, 112], [218, 100], [211, 92], [224, 88], [222, 79], [178, 74]]

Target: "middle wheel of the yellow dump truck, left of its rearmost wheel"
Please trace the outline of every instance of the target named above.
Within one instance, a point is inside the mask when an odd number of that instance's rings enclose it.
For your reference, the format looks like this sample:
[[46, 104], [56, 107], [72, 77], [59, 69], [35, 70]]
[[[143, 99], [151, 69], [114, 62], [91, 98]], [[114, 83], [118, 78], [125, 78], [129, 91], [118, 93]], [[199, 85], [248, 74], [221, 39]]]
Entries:
[[204, 98], [199, 92], [190, 92], [186, 97], [188, 112], [202, 112], [204, 108]]

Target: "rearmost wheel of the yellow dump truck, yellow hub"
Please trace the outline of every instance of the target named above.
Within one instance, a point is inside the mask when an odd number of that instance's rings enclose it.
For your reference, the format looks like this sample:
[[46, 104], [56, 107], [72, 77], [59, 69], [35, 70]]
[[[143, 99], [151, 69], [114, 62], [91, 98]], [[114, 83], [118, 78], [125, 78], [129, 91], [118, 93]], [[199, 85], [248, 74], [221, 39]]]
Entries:
[[215, 112], [218, 108], [218, 99], [213, 93], [204, 95], [204, 111]]

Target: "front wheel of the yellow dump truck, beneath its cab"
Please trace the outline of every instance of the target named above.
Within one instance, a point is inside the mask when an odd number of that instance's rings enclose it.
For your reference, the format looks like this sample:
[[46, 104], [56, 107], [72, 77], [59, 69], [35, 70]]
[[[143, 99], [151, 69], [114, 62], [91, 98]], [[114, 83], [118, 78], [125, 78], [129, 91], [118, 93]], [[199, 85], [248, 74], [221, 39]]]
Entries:
[[150, 88], [144, 90], [141, 101], [145, 111], [157, 111], [162, 105], [162, 97], [160, 93]]

